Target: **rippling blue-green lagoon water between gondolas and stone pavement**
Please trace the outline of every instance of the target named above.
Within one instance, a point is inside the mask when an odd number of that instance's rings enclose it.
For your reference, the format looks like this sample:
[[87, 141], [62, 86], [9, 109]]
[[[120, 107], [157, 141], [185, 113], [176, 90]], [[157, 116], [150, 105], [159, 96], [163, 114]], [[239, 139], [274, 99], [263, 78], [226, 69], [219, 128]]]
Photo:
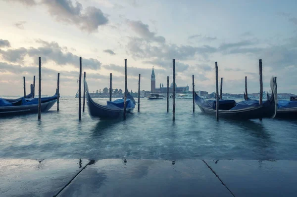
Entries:
[[[105, 103], [106, 99], [95, 99]], [[170, 100], [170, 110], [172, 110]], [[78, 100], [60, 99], [51, 111], [0, 119], [0, 158], [289, 159], [297, 160], [297, 120], [232, 121], [202, 114], [191, 99], [141, 99], [126, 121], [78, 121]]]

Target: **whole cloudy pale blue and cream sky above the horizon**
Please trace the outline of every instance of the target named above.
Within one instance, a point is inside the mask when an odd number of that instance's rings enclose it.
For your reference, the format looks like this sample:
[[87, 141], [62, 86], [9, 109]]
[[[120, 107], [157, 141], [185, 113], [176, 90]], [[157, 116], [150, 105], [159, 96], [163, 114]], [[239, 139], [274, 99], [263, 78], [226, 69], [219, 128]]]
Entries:
[[[29, 89], [42, 59], [42, 93], [53, 94], [60, 73], [62, 95], [78, 89], [79, 57], [90, 91], [109, 85], [150, 89], [195, 75], [196, 90], [215, 89], [215, 61], [223, 92], [259, 91], [258, 59], [264, 90], [277, 76], [278, 91], [297, 94], [296, 0], [0, 0], [0, 95]], [[38, 87], [38, 77], [37, 77]], [[36, 89], [37, 91], [37, 89]]]

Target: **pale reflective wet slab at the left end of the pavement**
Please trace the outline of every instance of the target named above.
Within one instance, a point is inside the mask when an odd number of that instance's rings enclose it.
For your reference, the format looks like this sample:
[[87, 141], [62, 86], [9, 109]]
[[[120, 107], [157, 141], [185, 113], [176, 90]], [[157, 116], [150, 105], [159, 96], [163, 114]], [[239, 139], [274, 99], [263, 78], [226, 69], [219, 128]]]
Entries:
[[52, 197], [89, 162], [89, 159], [0, 158], [0, 197]]

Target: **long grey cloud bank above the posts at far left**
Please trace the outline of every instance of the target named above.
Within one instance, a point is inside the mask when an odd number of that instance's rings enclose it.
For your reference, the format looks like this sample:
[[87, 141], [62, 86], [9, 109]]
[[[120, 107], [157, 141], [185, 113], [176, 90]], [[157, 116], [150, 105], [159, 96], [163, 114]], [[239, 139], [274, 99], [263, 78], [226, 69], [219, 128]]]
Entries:
[[[12, 63], [24, 63], [24, 57], [32, 57], [36, 64], [38, 64], [38, 57], [42, 58], [42, 62], [53, 61], [57, 65], [70, 64], [74, 67], [78, 67], [79, 56], [74, 55], [67, 51], [66, 47], [61, 47], [57, 42], [47, 42], [44, 40], [37, 40], [37, 43], [41, 44], [40, 47], [34, 48], [17, 48], [8, 49], [6, 51], [0, 50], [2, 59]], [[82, 59], [83, 67], [88, 69], [97, 70], [100, 68], [101, 63], [97, 59], [89, 58]]]

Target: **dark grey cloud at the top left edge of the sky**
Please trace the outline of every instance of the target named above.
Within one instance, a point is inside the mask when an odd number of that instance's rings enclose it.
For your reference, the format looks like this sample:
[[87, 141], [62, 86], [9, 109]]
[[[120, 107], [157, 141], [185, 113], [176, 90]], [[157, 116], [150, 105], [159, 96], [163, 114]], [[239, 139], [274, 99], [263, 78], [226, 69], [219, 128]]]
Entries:
[[13, 0], [26, 5], [46, 5], [49, 13], [59, 22], [74, 24], [80, 30], [89, 33], [96, 32], [100, 25], [108, 23], [108, 18], [103, 12], [94, 6], [83, 9], [80, 2], [73, 5], [71, 0]]

